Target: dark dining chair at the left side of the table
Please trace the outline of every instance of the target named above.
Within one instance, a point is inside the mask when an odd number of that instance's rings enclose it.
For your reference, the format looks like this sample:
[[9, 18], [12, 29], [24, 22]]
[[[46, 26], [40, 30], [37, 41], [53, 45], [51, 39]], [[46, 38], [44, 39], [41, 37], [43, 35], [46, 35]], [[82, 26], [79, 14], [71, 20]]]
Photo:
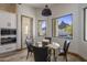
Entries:
[[32, 41], [32, 39], [26, 39], [25, 43], [26, 43], [26, 48], [28, 48], [28, 55], [26, 55], [26, 59], [28, 59], [29, 54], [32, 55], [32, 53], [33, 53], [33, 47], [32, 47], [33, 41]]

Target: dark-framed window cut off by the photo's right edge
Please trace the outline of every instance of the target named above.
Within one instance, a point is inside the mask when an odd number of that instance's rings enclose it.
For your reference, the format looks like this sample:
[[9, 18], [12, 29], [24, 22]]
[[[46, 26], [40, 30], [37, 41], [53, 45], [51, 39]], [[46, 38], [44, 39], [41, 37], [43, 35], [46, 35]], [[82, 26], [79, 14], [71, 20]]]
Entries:
[[84, 41], [87, 41], [87, 8], [84, 9]]

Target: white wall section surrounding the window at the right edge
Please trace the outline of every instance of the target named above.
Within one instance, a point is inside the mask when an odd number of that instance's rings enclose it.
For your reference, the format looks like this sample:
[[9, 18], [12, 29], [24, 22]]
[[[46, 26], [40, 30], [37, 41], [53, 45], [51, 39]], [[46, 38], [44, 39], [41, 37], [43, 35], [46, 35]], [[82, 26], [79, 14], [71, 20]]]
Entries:
[[87, 4], [79, 4], [79, 54], [87, 59], [87, 42], [84, 41], [84, 9]]

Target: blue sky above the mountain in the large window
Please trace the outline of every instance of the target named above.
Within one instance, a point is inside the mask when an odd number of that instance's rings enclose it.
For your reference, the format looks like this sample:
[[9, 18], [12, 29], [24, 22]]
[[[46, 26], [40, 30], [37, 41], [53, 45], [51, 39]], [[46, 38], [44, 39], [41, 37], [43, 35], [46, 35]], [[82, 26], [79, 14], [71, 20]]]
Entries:
[[72, 14], [68, 14], [68, 15], [58, 18], [58, 19], [57, 19], [57, 22], [58, 22], [58, 24], [61, 24], [62, 21], [64, 21], [65, 23], [67, 23], [67, 24], [70, 25], [70, 24], [72, 24], [72, 20], [73, 20], [73, 15], [72, 15]]

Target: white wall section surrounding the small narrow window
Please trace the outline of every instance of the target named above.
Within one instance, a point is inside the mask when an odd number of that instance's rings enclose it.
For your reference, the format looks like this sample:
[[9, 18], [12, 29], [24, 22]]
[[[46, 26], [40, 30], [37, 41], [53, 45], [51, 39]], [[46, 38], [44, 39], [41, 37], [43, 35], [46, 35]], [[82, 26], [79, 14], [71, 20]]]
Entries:
[[[50, 25], [52, 25], [52, 23], [51, 23], [51, 17], [48, 17], [48, 18], [46, 18], [46, 17], [42, 17], [42, 10], [43, 9], [41, 9], [41, 8], [39, 8], [39, 9], [35, 9], [35, 11], [36, 11], [36, 24], [35, 24], [35, 28], [36, 28], [36, 30], [35, 30], [35, 33], [36, 33], [36, 42], [37, 41], [42, 41], [45, 36], [52, 36], [52, 32], [50, 32], [50, 31], [52, 31], [52, 26], [50, 26]], [[48, 28], [46, 28], [46, 35], [45, 36], [39, 36], [37, 35], [37, 20], [46, 20], [46, 26]]]

